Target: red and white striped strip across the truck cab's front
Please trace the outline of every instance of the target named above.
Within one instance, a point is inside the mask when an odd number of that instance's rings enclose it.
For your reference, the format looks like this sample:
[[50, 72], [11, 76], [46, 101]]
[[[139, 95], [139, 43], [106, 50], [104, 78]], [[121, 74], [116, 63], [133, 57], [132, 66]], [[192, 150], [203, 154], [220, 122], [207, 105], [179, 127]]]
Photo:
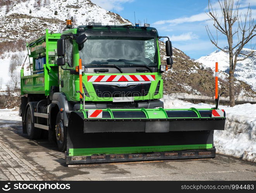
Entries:
[[155, 75], [94, 75], [87, 76], [88, 82], [154, 81]]

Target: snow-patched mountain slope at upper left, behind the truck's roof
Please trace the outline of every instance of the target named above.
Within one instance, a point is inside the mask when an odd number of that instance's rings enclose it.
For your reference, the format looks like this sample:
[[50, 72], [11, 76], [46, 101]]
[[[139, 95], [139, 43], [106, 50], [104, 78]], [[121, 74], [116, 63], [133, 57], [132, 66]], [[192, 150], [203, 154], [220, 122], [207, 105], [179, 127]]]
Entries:
[[129, 22], [90, 0], [9, 0], [2, 5], [0, 42], [27, 41], [43, 34], [46, 28], [61, 32], [65, 19], [71, 18], [74, 26], [88, 22], [101, 22], [103, 25]]

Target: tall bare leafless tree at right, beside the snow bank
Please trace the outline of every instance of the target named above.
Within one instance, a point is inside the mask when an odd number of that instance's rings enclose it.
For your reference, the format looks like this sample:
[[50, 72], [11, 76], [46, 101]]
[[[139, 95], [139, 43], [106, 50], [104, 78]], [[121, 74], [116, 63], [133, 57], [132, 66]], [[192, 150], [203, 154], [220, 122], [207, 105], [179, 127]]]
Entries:
[[[213, 26], [216, 29], [216, 35], [213, 36], [208, 25], [206, 30], [210, 41], [218, 49], [229, 54], [229, 96], [230, 107], [235, 105], [235, 88], [234, 88], [234, 71], [237, 61], [244, 60], [250, 56], [254, 56], [254, 50], [251, 48], [249, 54], [243, 54], [243, 47], [256, 36], [255, 22], [252, 17], [250, 5], [247, 11], [242, 15], [239, 0], [218, 0], [220, 9], [213, 8], [210, 0], [208, 0], [208, 10], [206, 13], [211, 20], [214, 21]], [[220, 17], [219, 17], [220, 16]], [[218, 33], [224, 34], [227, 37], [229, 49], [223, 49], [218, 45]], [[234, 43], [235, 41], [235, 43]], [[244, 55], [244, 58], [239, 58], [239, 55]]]

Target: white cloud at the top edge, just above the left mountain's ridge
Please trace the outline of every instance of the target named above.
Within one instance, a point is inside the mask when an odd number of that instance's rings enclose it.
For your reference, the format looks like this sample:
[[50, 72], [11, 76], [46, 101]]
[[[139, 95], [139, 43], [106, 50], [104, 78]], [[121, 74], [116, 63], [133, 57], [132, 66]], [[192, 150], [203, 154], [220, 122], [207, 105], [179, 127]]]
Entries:
[[123, 3], [131, 3], [133, 1], [134, 0], [91, 0], [91, 2], [109, 11], [113, 11], [113, 9], [114, 11], [121, 11], [124, 9], [124, 7], [122, 7]]

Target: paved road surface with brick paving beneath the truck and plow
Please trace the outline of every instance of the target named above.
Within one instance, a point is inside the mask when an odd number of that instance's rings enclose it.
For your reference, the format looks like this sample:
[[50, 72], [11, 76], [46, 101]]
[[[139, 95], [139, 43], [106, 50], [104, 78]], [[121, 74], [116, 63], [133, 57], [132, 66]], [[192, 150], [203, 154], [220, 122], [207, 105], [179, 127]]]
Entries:
[[29, 140], [21, 122], [0, 120], [0, 180], [256, 180], [256, 164], [217, 154], [215, 159], [67, 167], [55, 144]]

